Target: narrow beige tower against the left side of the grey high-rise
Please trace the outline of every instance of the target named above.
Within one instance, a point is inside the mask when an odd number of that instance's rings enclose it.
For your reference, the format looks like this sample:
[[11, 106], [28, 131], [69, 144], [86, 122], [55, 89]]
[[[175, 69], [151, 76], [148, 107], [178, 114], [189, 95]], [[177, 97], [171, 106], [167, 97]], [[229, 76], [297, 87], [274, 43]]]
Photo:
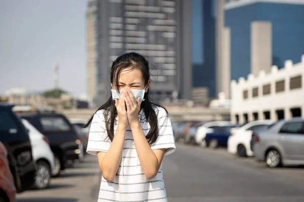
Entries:
[[87, 94], [93, 99], [96, 94], [96, 45], [97, 2], [91, 0], [87, 8]]

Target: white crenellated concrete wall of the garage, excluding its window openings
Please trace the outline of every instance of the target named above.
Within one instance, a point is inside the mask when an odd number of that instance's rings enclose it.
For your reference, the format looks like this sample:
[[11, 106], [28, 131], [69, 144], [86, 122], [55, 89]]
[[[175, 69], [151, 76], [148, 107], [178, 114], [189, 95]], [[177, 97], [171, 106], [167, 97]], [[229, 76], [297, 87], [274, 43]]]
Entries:
[[[238, 82], [231, 82], [232, 89], [232, 109], [231, 119], [236, 122], [236, 116], [239, 115], [240, 123], [244, 122], [244, 114], [248, 114], [248, 121], [253, 120], [253, 113], [258, 113], [259, 119], [264, 119], [263, 112], [270, 112], [270, 119], [277, 120], [276, 111], [283, 110], [284, 118], [291, 118], [290, 109], [300, 108], [303, 117], [304, 88], [296, 88], [290, 90], [290, 79], [301, 76], [301, 86], [304, 83], [304, 55], [301, 57], [301, 62], [292, 64], [292, 61], [285, 61], [285, 67], [282, 69], [277, 66], [271, 67], [271, 72], [266, 74], [265, 71], [260, 71], [258, 76], [249, 74], [247, 80], [241, 77]], [[276, 82], [285, 80], [285, 90], [276, 92]], [[263, 86], [271, 84], [270, 94], [263, 95]], [[252, 96], [252, 89], [258, 87], [258, 96]], [[248, 98], [244, 98], [243, 92], [248, 90]]]

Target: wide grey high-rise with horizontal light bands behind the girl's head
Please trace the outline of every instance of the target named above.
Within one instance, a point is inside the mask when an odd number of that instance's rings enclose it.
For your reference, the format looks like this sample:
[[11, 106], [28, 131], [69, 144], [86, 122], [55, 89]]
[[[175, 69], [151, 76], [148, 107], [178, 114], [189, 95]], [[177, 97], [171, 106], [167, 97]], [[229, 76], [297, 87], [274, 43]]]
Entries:
[[173, 92], [191, 98], [190, 2], [99, 0], [97, 8], [96, 104], [105, 103], [109, 95], [112, 61], [129, 52], [143, 55], [152, 64], [154, 100], [172, 98], [177, 94]]

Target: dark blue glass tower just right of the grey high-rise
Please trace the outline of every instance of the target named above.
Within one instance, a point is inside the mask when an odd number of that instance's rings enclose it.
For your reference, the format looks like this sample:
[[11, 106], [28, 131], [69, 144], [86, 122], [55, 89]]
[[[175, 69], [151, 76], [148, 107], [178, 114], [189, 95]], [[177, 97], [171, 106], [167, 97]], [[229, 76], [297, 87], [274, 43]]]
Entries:
[[216, 0], [193, 0], [192, 3], [193, 87], [206, 87], [207, 96], [215, 97]]

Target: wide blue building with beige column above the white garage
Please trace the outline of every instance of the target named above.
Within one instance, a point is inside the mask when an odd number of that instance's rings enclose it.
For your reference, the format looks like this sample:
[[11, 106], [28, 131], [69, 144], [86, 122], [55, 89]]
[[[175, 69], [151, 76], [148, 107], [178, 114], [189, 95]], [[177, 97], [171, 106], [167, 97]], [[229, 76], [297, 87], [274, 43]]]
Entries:
[[239, 0], [225, 5], [231, 30], [231, 79], [300, 62], [304, 53], [304, 1]]

